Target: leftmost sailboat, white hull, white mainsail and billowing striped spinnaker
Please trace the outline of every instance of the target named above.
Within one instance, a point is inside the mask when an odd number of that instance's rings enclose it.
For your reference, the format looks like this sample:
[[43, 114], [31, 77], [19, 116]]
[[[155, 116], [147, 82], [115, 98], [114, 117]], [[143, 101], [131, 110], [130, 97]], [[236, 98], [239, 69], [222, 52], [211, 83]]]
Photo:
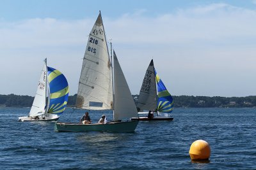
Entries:
[[58, 120], [68, 101], [68, 82], [65, 76], [52, 67], [47, 59], [38, 82], [35, 99], [28, 117], [19, 117], [20, 122]]

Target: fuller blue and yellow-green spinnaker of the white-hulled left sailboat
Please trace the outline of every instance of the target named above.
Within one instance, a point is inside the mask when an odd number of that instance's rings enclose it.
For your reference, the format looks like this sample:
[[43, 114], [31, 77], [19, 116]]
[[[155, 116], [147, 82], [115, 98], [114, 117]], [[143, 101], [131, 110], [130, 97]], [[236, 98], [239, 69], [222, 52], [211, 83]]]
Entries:
[[61, 114], [67, 107], [68, 81], [65, 76], [52, 67], [47, 67], [50, 100], [47, 113]]

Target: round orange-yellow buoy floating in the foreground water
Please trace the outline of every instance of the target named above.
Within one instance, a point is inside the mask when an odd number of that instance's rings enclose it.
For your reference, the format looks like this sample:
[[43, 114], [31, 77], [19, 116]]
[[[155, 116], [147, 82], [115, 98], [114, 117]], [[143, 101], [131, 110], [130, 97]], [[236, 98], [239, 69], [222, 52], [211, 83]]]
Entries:
[[197, 140], [192, 143], [189, 150], [191, 160], [209, 159], [211, 155], [210, 145], [204, 140]]

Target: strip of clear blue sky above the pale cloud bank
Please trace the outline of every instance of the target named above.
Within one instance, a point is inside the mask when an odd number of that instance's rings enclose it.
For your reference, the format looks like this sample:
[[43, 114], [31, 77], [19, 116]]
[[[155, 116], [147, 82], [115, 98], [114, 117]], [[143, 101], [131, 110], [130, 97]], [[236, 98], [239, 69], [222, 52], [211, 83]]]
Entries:
[[15, 21], [28, 18], [56, 18], [60, 20], [77, 20], [95, 17], [101, 10], [104, 15], [118, 18], [124, 13], [146, 10], [145, 16], [157, 16], [172, 13], [179, 9], [206, 6], [214, 3], [227, 3], [232, 6], [255, 10], [253, 1], [218, 1], [218, 0], [1, 0], [0, 16], [3, 20]]

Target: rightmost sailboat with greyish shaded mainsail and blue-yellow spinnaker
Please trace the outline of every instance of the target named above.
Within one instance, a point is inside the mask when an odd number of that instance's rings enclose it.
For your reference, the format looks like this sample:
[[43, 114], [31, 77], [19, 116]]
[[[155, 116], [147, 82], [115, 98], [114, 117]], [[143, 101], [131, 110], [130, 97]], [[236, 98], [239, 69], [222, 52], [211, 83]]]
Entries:
[[148, 113], [143, 112], [147, 110], [156, 113], [156, 116], [154, 118], [134, 117], [131, 118], [132, 120], [173, 120], [173, 117], [170, 117], [173, 111], [173, 98], [158, 76], [153, 59], [150, 61], [141, 85], [137, 110], [139, 115]]

